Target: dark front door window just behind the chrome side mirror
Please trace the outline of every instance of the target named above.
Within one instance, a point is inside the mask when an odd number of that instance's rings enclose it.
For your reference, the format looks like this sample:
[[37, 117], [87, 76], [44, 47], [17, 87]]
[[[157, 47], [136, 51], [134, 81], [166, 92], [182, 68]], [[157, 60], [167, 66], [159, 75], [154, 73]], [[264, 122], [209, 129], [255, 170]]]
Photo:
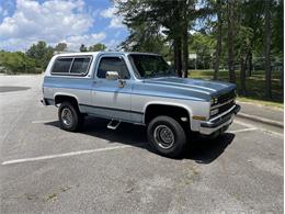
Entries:
[[99, 64], [99, 78], [106, 78], [106, 71], [117, 71], [121, 79], [129, 79], [129, 72], [124, 59], [119, 57], [102, 57]]

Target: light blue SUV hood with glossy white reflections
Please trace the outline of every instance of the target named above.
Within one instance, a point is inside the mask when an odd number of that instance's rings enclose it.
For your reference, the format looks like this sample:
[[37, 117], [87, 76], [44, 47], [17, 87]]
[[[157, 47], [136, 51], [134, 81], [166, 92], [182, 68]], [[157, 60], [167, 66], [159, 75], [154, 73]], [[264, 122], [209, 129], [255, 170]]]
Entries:
[[156, 83], [171, 86], [181, 89], [193, 90], [207, 94], [219, 94], [227, 91], [231, 91], [236, 88], [236, 85], [220, 81], [207, 81], [200, 79], [187, 79], [179, 77], [161, 77], [145, 79], [146, 83]]

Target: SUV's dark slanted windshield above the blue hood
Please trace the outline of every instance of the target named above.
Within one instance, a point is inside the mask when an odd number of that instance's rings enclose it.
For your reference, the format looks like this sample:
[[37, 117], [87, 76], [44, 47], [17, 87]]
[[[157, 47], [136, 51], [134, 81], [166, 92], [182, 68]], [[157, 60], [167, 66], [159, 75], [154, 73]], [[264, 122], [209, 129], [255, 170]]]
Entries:
[[130, 54], [128, 58], [139, 78], [174, 76], [174, 71], [161, 56]]

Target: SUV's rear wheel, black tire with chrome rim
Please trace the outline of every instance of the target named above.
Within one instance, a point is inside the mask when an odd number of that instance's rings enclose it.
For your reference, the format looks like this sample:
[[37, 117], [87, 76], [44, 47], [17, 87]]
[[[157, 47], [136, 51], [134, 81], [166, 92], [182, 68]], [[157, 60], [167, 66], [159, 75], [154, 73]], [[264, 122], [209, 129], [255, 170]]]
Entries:
[[[68, 112], [68, 120], [67, 116], [64, 116], [65, 112]], [[58, 120], [60, 128], [68, 132], [77, 132], [82, 127], [84, 117], [79, 112], [78, 106], [67, 101], [62, 102], [58, 109]]]

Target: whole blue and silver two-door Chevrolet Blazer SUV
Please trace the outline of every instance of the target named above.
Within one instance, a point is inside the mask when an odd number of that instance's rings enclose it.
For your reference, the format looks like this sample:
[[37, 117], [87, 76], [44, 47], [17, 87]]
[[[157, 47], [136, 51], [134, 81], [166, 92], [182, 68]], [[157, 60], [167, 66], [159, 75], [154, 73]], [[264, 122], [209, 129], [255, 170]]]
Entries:
[[44, 105], [58, 106], [60, 127], [76, 132], [84, 116], [147, 126], [150, 145], [163, 156], [179, 156], [190, 133], [218, 136], [240, 110], [236, 85], [183, 79], [160, 55], [73, 53], [50, 59], [43, 81]]

